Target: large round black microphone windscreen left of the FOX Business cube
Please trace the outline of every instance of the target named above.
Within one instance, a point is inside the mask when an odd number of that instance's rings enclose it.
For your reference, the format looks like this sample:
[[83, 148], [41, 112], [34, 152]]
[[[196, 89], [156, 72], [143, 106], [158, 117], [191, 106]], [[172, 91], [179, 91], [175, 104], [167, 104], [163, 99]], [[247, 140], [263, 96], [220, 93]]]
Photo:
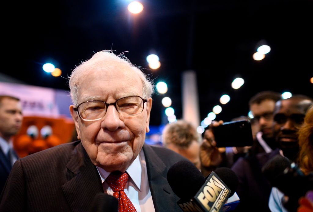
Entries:
[[169, 168], [167, 181], [181, 199], [191, 199], [205, 182], [205, 178], [190, 161], [178, 161]]

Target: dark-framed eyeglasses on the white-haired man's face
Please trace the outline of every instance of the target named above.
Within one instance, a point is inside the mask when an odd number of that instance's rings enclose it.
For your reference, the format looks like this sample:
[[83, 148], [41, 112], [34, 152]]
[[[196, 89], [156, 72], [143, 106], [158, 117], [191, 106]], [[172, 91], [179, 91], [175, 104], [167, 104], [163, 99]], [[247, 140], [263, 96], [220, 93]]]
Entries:
[[110, 105], [114, 105], [117, 112], [123, 116], [138, 115], [143, 111], [146, 99], [140, 96], [123, 97], [116, 100], [114, 103], [106, 103], [98, 100], [91, 100], [80, 103], [75, 111], [84, 121], [96, 121], [102, 119]]

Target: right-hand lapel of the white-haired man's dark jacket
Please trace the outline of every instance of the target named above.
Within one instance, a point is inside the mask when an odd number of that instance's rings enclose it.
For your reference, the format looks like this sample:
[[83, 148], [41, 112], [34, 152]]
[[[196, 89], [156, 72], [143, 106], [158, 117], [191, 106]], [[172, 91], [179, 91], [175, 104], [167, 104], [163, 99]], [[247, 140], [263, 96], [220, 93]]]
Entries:
[[167, 182], [167, 167], [155, 151], [143, 145], [151, 196], [156, 211], [172, 211], [176, 208], [176, 199]]

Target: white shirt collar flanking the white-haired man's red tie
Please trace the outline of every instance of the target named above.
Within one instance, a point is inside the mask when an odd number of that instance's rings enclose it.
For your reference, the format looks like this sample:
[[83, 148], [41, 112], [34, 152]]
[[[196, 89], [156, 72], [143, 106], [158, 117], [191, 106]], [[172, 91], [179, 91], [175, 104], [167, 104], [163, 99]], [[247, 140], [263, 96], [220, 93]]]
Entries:
[[[141, 149], [141, 152], [143, 153], [143, 150]], [[134, 162], [127, 168], [126, 172], [128, 173], [129, 177], [133, 180], [133, 182], [136, 184], [137, 188], [140, 190], [141, 186], [141, 152], [140, 154], [136, 157]], [[111, 172], [105, 171], [101, 167], [97, 167], [97, 170], [100, 174], [100, 178], [102, 183], [105, 181], [105, 179], [110, 175]]]

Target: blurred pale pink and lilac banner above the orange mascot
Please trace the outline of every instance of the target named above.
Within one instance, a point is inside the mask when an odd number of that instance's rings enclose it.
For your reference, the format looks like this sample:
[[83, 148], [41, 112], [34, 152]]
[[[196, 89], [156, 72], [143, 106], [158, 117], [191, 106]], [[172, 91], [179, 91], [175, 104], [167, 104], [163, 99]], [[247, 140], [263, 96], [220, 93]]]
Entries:
[[69, 91], [0, 82], [0, 95], [10, 95], [21, 100], [24, 116], [71, 118], [69, 105], [72, 104]]

